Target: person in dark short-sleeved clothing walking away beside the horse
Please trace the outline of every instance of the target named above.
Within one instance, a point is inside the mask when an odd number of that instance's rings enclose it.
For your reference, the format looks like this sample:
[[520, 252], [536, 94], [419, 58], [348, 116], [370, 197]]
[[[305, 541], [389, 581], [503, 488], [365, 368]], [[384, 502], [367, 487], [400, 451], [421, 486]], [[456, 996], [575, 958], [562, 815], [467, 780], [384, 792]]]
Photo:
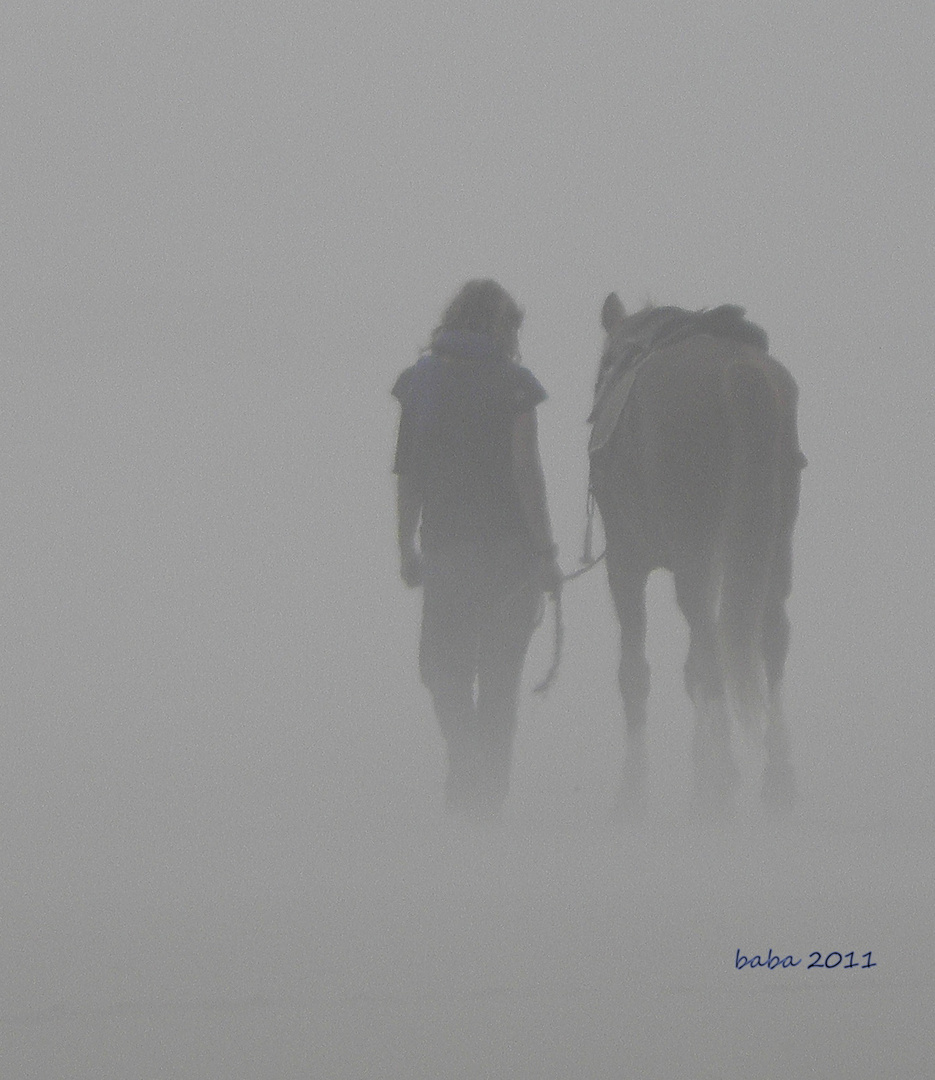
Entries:
[[467, 282], [392, 390], [399, 568], [422, 586], [419, 671], [447, 747], [445, 802], [480, 819], [506, 797], [526, 650], [543, 592], [561, 586], [537, 434], [546, 394], [518, 363], [521, 323], [497, 282]]

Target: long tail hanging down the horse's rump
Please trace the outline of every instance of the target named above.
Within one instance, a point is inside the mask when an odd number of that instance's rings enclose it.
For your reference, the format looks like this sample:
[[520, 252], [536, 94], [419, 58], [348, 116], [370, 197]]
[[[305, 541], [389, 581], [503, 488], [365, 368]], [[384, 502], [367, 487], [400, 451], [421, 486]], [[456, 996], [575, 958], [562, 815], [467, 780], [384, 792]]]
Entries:
[[732, 453], [719, 636], [730, 700], [749, 726], [767, 703], [761, 624], [780, 527], [781, 418], [774, 389], [754, 363], [730, 366], [726, 397]]

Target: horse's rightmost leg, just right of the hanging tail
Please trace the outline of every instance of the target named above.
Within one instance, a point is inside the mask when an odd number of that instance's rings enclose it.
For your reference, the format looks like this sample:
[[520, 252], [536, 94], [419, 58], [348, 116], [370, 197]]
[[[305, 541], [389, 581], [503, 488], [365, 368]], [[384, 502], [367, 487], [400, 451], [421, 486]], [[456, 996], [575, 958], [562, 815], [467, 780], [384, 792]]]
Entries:
[[767, 765], [763, 801], [777, 810], [791, 807], [796, 798], [796, 774], [790, 760], [789, 737], [783, 715], [782, 681], [789, 650], [786, 597], [791, 586], [791, 537], [781, 541], [763, 612], [762, 648], [767, 669], [769, 715], [765, 731]]

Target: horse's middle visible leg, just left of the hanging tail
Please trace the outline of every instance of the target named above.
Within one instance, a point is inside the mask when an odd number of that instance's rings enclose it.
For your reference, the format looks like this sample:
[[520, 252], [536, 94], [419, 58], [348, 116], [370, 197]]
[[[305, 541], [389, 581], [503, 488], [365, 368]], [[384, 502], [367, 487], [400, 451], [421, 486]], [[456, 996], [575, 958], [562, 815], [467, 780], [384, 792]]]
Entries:
[[731, 720], [718, 650], [714, 573], [704, 565], [675, 573], [676, 599], [689, 625], [685, 685], [694, 707], [692, 765], [695, 804], [707, 815], [723, 814], [740, 772], [731, 755]]

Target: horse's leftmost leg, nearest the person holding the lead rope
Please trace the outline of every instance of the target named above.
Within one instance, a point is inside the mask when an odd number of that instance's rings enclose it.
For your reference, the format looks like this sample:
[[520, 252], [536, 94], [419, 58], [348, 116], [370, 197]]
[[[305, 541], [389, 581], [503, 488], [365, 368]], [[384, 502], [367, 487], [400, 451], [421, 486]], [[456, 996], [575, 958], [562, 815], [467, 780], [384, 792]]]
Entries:
[[623, 773], [616, 812], [638, 816], [646, 794], [646, 719], [649, 663], [646, 659], [646, 581], [649, 571], [634, 569], [619, 553], [608, 552], [607, 577], [620, 620], [618, 679], [626, 720]]

